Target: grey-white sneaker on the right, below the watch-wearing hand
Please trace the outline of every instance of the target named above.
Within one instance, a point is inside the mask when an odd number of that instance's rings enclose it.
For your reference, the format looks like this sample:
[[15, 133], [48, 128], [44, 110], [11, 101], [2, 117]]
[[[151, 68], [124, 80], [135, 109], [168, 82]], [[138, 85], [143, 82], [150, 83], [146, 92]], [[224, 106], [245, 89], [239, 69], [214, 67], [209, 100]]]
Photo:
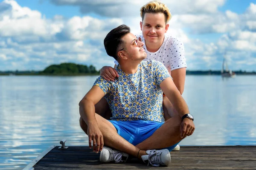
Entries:
[[141, 159], [144, 162], [148, 160], [148, 165], [159, 167], [160, 164], [168, 166], [171, 163], [171, 154], [168, 149], [146, 150], [146, 153], [148, 155], [141, 156]]

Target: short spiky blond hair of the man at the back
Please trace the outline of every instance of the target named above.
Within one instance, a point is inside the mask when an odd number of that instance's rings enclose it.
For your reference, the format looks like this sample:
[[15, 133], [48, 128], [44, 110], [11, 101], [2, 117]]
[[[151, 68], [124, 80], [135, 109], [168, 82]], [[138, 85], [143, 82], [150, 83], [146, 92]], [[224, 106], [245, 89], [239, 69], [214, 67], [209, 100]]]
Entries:
[[172, 18], [172, 14], [166, 4], [157, 0], [150, 1], [140, 8], [140, 17], [142, 18], [142, 21], [144, 20], [145, 13], [163, 13], [166, 23]]

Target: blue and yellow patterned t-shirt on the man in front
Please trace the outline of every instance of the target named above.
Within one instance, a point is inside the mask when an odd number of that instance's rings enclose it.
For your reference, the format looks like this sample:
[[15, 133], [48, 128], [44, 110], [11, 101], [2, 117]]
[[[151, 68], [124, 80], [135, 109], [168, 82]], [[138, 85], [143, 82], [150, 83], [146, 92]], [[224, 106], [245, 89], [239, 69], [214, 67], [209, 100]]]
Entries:
[[149, 120], [164, 122], [163, 91], [161, 82], [171, 77], [166, 67], [158, 61], [142, 61], [135, 74], [125, 74], [119, 65], [114, 82], [99, 77], [93, 85], [105, 93], [112, 112], [111, 120]]

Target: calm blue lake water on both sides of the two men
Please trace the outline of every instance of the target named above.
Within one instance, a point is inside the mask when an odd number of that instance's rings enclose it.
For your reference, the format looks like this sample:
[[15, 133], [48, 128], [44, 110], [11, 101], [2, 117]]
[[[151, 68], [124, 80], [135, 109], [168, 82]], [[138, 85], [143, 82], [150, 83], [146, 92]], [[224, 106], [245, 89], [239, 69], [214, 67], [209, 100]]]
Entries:
[[[22, 169], [51, 145], [87, 145], [79, 101], [97, 76], [0, 76], [0, 170]], [[256, 145], [256, 76], [187, 76], [196, 130], [180, 145]]]

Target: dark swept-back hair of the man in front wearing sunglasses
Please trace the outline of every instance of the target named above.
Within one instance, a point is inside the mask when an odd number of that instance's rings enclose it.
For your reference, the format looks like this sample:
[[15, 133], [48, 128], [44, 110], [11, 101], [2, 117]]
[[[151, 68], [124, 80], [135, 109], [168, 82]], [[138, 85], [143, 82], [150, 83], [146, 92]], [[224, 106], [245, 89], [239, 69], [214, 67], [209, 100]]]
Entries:
[[107, 54], [117, 60], [117, 52], [120, 51], [124, 45], [121, 39], [126, 34], [130, 33], [130, 28], [126, 25], [118, 26], [112, 29], [104, 39], [104, 46]]

